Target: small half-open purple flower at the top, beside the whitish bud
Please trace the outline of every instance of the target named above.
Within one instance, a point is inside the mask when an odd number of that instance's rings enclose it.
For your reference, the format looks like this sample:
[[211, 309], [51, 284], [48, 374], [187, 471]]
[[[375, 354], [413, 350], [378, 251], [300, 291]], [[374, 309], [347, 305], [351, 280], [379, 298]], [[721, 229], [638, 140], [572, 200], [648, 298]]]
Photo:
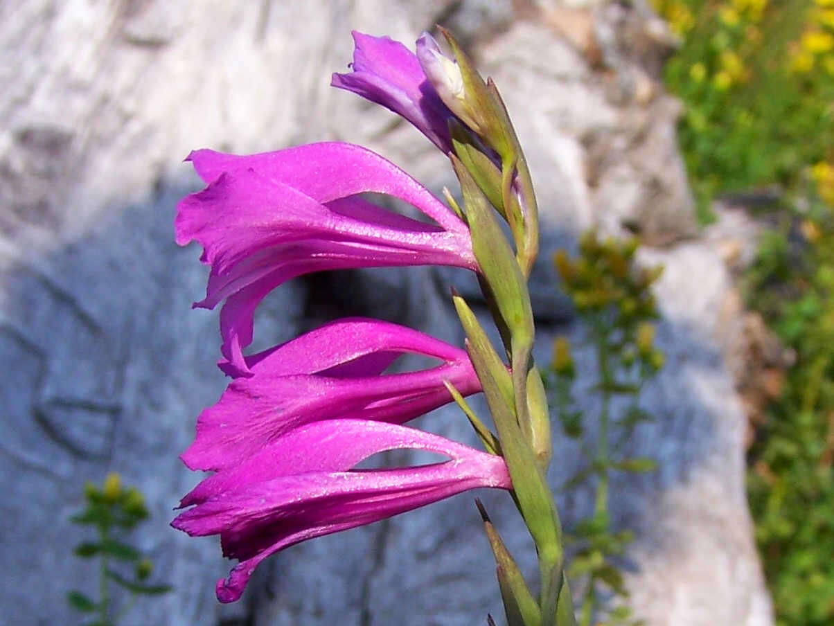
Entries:
[[426, 78], [420, 60], [402, 43], [354, 31], [352, 73], [334, 74], [334, 87], [358, 93], [414, 124], [444, 153], [451, 150], [449, 119], [455, 114]]

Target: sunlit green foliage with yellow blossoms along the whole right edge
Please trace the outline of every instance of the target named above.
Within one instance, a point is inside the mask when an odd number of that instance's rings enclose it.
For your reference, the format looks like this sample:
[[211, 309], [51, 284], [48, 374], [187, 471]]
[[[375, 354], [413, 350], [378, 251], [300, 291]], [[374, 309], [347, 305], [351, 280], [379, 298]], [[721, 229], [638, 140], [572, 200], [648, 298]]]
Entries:
[[796, 353], [750, 451], [777, 623], [834, 623], [834, 0], [653, 0], [682, 46], [666, 83], [702, 217], [716, 193], [778, 185], [747, 297]]

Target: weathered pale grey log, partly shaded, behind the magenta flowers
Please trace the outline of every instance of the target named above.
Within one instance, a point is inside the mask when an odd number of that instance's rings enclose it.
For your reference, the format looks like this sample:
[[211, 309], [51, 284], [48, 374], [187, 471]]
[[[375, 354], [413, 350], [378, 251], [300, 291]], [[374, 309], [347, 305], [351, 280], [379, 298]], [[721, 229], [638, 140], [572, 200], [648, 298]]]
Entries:
[[[8, 623], [78, 621], [63, 595], [93, 593], [95, 573], [71, 557], [82, 535], [67, 520], [83, 480], [108, 470], [148, 496], [153, 521], [139, 540], [155, 575], [176, 587], [123, 623], [471, 624], [500, 614], [470, 496], [291, 548], [229, 607], [214, 599], [214, 580], [229, 568], [217, 540], [167, 525], [197, 480], [177, 454], [224, 387], [216, 315], [189, 311], [204, 288], [198, 251], [173, 243], [174, 204], [198, 188], [181, 158], [201, 146], [245, 153], [339, 139], [369, 145], [431, 188], [451, 187], [445, 159], [419, 133], [328, 86], [350, 59], [349, 28], [408, 42], [437, 22], [458, 29], [495, 78], [538, 184], [540, 360], [555, 333], [575, 344], [583, 333], [554, 288], [555, 248], [573, 248], [594, 224], [613, 234], [636, 228], [666, 246], [642, 253], [666, 265], [657, 296], [668, 364], [644, 397], [658, 419], [630, 443], [661, 468], [615, 483], [613, 502], [617, 521], [638, 533], [628, 559], [636, 613], [651, 626], [771, 623], [746, 509], [744, 415], [721, 353], [726, 333], [741, 332], [721, 318], [730, 275], [706, 243], [675, 243], [695, 229], [676, 104], [653, 78], [651, 59], [667, 43], [656, 23], [632, 28], [651, 20], [633, 4], [634, 13], [625, 3], [475, 0], [0, 4]], [[569, 14], [581, 28], [560, 28]], [[643, 48], [631, 43], [646, 33]], [[299, 280], [259, 310], [256, 336], [265, 346], [363, 313], [460, 342], [450, 279], [465, 281], [428, 268]], [[590, 375], [590, 352], [577, 360]], [[452, 408], [420, 423], [472, 440]], [[559, 483], [580, 460], [558, 433], [555, 449]], [[485, 501], [510, 548], [530, 555], [509, 500]], [[570, 493], [560, 508], [570, 525], [587, 513], [590, 493]], [[533, 569], [529, 558], [525, 567]]]

